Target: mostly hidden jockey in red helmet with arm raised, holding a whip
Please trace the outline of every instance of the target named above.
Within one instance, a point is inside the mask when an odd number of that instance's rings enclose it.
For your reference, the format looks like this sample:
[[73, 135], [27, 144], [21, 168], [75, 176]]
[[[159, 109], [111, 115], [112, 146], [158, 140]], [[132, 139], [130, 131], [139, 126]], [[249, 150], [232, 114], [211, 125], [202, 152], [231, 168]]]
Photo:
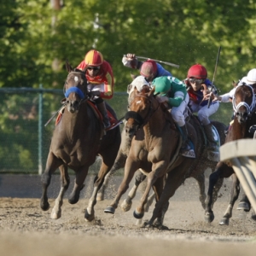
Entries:
[[138, 61], [135, 54], [124, 55], [122, 62], [125, 67], [131, 67], [140, 70], [140, 74], [152, 82], [155, 78], [162, 76], [172, 76], [172, 73], [167, 71], [159, 63], [148, 59], [148, 61]]

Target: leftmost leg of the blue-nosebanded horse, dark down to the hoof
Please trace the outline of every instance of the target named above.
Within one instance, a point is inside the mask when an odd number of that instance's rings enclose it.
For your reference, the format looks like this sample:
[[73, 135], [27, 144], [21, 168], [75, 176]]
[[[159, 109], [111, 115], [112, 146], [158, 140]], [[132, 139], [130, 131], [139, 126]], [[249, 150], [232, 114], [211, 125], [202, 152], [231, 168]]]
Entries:
[[61, 164], [62, 164], [61, 160], [57, 159], [52, 152], [49, 152], [47, 162], [46, 162], [46, 168], [41, 177], [41, 182], [43, 185], [43, 194], [40, 199], [40, 207], [43, 211], [49, 210], [47, 189], [49, 187], [51, 175], [52, 175], [52, 173], [55, 172], [55, 170], [59, 166], [61, 166]]

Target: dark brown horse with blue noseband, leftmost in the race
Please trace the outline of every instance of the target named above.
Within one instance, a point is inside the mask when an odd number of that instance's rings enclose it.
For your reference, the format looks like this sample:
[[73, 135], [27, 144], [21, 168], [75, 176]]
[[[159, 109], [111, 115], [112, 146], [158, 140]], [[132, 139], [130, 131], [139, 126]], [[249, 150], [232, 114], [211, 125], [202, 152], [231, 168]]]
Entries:
[[[93, 193], [84, 214], [84, 218], [91, 221], [95, 218], [94, 206], [97, 191], [113, 166], [119, 150], [120, 131], [118, 126], [103, 136], [102, 119], [90, 102], [85, 73], [77, 69], [73, 70], [68, 63], [66, 67], [68, 71], [64, 85], [66, 107], [61, 120], [55, 126], [51, 140], [45, 171], [42, 175], [43, 195], [40, 207], [44, 211], [49, 209], [47, 188], [51, 175], [59, 168], [61, 191], [55, 200], [51, 218], [61, 218], [63, 196], [70, 183], [67, 169], [73, 169], [76, 175], [73, 191], [68, 198], [69, 203], [75, 204], [79, 201], [80, 190], [84, 188], [84, 180], [89, 167], [95, 162], [96, 156], [101, 155], [102, 166], [95, 177]], [[107, 107], [115, 117], [113, 110]]]

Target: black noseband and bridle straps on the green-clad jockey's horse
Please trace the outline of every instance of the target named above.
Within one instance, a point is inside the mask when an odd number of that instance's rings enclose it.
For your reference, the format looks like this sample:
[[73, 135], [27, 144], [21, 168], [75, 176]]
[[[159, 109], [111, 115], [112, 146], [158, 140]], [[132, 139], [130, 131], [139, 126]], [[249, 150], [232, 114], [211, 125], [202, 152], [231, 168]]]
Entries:
[[[146, 98], [148, 99], [147, 96], [134, 96], [133, 98], [136, 98], [136, 97], [143, 97], [143, 98]], [[152, 101], [150, 99], [148, 99], [149, 102], [150, 102], [150, 107], [149, 107], [149, 110], [148, 110], [148, 113], [145, 117], [145, 119], [143, 119], [143, 117], [137, 113], [136, 111], [128, 111], [126, 114], [125, 114], [125, 119], [128, 120], [128, 119], [134, 119], [137, 124], [138, 124], [138, 129], [141, 129], [144, 125], [146, 125], [148, 123], [148, 120], [154, 115], [154, 113], [158, 110], [158, 108], [160, 107], [160, 103], [158, 102], [158, 106], [157, 108], [153, 109], [152, 108]]]

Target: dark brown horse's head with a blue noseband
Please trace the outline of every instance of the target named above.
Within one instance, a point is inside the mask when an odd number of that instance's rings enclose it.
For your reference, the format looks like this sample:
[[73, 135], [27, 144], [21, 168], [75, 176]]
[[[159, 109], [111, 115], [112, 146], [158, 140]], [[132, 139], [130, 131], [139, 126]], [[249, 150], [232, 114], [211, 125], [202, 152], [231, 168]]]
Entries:
[[64, 85], [64, 93], [67, 110], [70, 113], [75, 113], [78, 112], [80, 104], [88, 98], [87, 79], [83, 71], [73, 69], [68, 62], [66, 62], [66, 67], [68, 75]]

